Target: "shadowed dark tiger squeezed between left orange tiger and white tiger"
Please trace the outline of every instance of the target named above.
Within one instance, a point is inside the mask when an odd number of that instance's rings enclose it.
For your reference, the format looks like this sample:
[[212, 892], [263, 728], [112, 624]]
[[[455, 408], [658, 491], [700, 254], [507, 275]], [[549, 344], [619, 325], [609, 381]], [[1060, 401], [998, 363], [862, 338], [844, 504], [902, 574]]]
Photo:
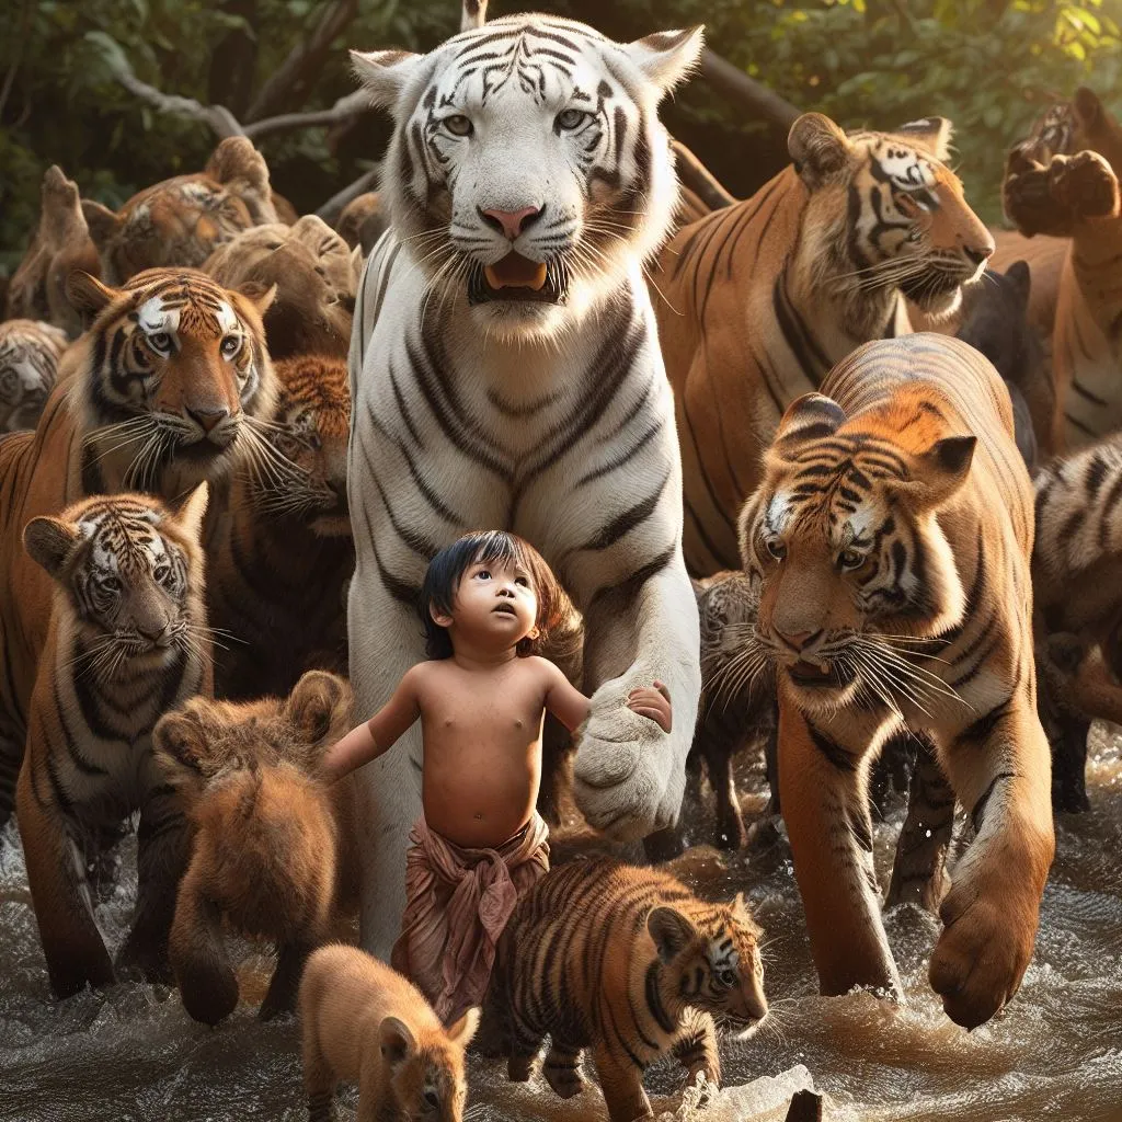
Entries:
[[215, 692], [230, 700], [287, 693], [313, 668], [347, 669], [347, 362], [305, 356], [275, 369], [266, 439], [284, 460], [233, 480], [208, 542], [211, 623], [230, 636], [215, 652]]

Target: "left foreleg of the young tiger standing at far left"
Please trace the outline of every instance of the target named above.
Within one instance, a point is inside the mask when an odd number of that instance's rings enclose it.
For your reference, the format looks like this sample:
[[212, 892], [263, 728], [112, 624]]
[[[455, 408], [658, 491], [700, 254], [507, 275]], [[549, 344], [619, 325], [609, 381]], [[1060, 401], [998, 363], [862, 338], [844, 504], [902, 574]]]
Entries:
[[33, 771], [28, 752], [16, 788], [16, 819], [50, 988], [68, 997], [86, 983], [111, 985], [116, 976], [93, 918], [82, 847], [49, 783]]

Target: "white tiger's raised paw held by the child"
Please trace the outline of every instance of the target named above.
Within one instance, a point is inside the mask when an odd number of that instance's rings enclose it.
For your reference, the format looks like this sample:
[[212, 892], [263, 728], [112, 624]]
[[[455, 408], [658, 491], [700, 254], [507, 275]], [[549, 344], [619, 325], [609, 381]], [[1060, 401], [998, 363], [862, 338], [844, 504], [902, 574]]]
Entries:
[[589, 826], [620, 842], [672, 825], [681, 802], [681, 783], [678, 800], [666, 799], [674, 734], [632, 712], [629, 691], [618, 680], [596, 691], [573, 761], [577, 807]]

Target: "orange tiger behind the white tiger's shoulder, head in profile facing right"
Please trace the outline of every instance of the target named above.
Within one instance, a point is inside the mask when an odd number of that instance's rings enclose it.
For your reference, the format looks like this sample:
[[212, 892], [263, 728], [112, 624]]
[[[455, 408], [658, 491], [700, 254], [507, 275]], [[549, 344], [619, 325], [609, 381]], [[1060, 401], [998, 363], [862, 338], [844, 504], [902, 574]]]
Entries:
[[944, 164], [950, 125], [791, 127], [793, 165], [680, 230], [651, 270], [674, 389], [691, 572], [737, 567], [736, 512], [783, 410], [867, 339], [909, 331], [904, 297], [951, 313], [993, 238]]

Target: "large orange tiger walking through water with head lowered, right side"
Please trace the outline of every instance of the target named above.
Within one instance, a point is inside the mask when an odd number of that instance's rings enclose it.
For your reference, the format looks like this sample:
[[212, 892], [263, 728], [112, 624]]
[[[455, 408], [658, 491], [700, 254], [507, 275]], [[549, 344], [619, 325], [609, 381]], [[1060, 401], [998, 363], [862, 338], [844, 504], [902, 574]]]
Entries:
[[1055, 850], [1036, 710], [1032, 487], [1009, 394], [931, 333], [858, 348], [791, 404], [739, 519], [753, 640], [779, 681], [779, 783], [822, 993], [899, 993], [867, 780], [930, 736], [976, 835], [942, 901], [930, 981], [972, 1028], [1017, 992]]

